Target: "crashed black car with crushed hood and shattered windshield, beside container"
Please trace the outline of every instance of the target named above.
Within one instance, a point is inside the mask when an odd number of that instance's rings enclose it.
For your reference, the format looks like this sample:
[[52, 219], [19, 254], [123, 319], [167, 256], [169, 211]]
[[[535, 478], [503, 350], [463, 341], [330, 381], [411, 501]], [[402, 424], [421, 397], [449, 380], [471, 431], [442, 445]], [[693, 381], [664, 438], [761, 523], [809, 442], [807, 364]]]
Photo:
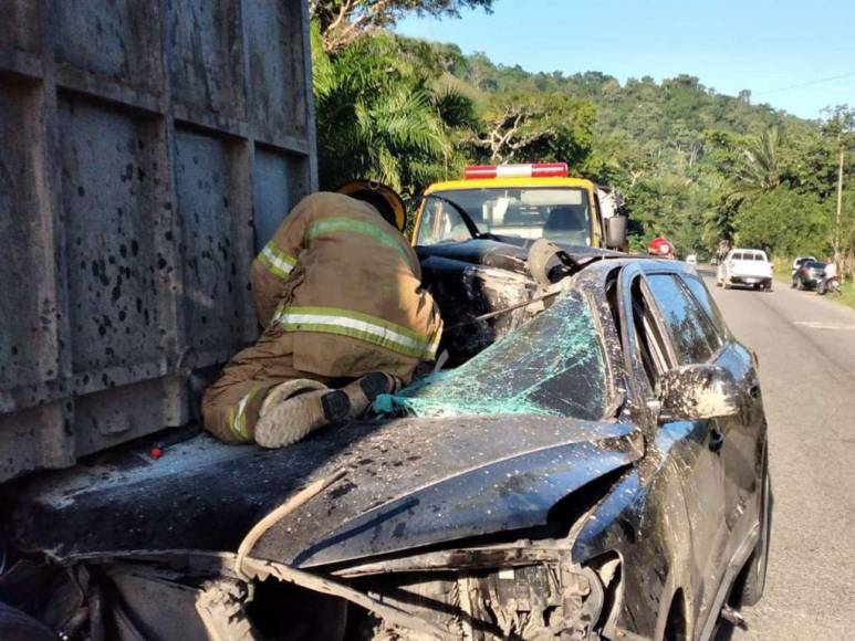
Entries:
[[763, 592], [753, 355], [680, 263], [529, 243], [420, 248], [448, 365], [377, 417], [12, 486], [0, 601], [66, 639], [709, 639]]

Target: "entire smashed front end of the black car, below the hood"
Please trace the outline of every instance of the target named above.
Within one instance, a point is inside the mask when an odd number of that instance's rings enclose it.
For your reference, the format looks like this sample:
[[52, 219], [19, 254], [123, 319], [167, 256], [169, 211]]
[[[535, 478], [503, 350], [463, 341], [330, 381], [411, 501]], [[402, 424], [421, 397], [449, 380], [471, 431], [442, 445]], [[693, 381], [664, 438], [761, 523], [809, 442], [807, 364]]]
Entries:
[[598, 639], [619, 564], [582, 567], [567, 549], [522, 540], [312, 572], [197, 550], [93, 555], [45, 602], [70, 639]]

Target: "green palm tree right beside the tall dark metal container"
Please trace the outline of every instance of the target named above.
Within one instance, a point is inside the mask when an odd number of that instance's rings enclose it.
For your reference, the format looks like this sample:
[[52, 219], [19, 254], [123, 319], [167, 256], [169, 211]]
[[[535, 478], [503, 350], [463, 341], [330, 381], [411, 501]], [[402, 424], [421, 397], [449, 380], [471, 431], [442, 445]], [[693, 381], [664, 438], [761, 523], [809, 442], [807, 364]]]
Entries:
[[358, 40], [330, 55], [313, 48], [321, 182], [380, 180], [404, 196], [441, 177], [471, 101], [435, 88], [394, 36]]

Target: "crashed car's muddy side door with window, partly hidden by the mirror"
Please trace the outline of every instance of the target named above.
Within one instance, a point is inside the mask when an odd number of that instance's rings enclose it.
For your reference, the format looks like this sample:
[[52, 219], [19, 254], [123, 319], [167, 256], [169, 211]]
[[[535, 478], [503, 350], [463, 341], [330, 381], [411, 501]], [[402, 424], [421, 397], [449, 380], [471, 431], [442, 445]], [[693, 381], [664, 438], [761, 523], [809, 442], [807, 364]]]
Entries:
[[[656, 308], [656, 322], [667, 354], [666, 367], [717, 362], [723, 341], [710, 333], [706, 313], [682, 283], [669, 271], [646, 274], [645, 285]], [[719, 419], [676, 420], [660, 430], [679, 439], [676, 456], [685, 466], [684, 491], [692, 542], [692, 579], [696, 616], [703, 621], [710, 613], [728, 565], [724, 443]]]

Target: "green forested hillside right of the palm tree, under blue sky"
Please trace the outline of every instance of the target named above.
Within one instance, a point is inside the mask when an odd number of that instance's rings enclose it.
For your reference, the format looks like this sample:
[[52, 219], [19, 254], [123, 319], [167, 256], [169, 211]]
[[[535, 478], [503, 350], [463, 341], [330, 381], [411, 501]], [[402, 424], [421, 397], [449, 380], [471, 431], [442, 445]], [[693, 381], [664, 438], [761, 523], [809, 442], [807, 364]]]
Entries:
[[[622, 85], [598, 72], [532, 74], [497, 66], [483, 55], [463, 56], [453, 45], [429, 49], [442, 61], [445, 82], [479, 105], [481, 138], [504, 140], [499, 148], [478, 146], [479, 159], [551, 160], [562, 159], [551, 151], [563, 151], [575, 171], [624, 192], [639, 241], [666, 234], [688, 252], [736, 237], [784, 254], [831, 251], [840, 134], [835, 123], [754, 105], [748, 91], [721, 95], [689, 75], [661, 83], [630, 78]], [[569, 140], [554, 150], [514, 150], [526, 135], [512, 133], [518, 117], [530, 128], [549, 128], [556, 102], [573, 123]], [[851, 114], [838, 116], [838, 126], [851, 129]], [[845, 178], [852, 175], [849, 164]], [[844, 197], [851, 248], [855, 190]]]

